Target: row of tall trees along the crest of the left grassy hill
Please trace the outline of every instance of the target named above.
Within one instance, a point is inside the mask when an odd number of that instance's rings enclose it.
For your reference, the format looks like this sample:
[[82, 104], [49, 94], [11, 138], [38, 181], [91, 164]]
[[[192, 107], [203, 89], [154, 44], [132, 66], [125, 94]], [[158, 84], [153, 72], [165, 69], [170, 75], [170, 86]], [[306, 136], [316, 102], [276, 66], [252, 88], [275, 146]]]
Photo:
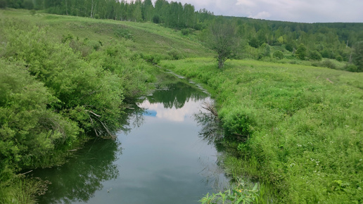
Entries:
[[0, 0], [0, 8], [6, 6], [44, 10], [59, 15], [163, 23], [167, 27], [191, 27], [196, 30], [200, 30], [202, 23], [213, 15], [205, 9], [196, 11], [191, 4], [165, 0], [155, 1], [155, 6], [151, 0], [130, 3], [124, 0]]

